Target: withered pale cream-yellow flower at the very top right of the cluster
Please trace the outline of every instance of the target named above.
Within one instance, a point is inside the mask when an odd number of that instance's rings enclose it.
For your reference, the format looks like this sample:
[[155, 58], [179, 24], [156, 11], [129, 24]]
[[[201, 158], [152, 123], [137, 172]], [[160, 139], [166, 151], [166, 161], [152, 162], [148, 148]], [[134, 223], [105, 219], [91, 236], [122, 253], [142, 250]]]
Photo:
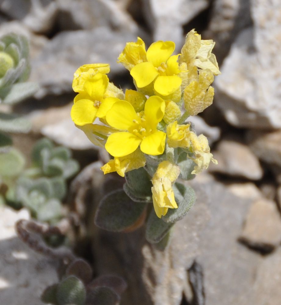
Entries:
[[197, 66], [200, 69], [209, 69], [214, 75], [220, 74], [216, 56], [212, 53], [215, 42], [201, 40], [201, 35], [193, 29], [186, 35], [185, 44], [181, 50], [179, 63]]

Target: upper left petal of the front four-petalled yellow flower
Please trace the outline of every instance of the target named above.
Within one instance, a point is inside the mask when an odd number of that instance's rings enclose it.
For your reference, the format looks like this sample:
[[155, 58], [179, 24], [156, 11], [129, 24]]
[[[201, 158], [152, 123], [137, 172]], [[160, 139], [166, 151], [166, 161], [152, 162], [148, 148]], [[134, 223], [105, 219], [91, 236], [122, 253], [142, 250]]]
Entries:
[[128, 130], [134, 125], [133, 120], [138, 120], [134, 107], [126, 101], [120, 101], [113, 104], [106, 113], [106, 122], [117, 129]]

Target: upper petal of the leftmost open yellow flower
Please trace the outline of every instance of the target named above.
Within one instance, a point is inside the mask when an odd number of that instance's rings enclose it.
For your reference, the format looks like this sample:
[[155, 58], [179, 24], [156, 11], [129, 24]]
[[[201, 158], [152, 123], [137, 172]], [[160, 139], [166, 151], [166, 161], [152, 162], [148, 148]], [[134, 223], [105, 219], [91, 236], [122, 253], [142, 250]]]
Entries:
[[109, 80], [106, 75], [98, 73], [91, 79], [85, 81], [84, 90], [93, 100], [100, 101], [103, 99], [108, 82]]

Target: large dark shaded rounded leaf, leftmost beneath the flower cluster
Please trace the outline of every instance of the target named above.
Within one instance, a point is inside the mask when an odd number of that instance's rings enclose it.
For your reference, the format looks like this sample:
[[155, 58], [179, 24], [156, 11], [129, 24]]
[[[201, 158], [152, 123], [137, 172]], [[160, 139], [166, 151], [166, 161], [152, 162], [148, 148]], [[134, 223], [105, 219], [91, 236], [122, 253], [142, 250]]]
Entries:
[[132, 201], [123, 190], [113, 191], [100, 201], [95, 224], [104, 230], [123, 231], [139, 219], [145, 207], [144, 203]]

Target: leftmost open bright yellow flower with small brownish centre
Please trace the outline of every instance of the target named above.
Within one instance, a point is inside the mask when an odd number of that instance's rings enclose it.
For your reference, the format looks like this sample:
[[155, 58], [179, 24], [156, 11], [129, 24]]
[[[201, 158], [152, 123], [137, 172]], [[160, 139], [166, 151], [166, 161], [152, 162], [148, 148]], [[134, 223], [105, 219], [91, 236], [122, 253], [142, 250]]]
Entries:
[[76, 95], [71, 108], [71, 118], [78, 126], [91, 124], [96, 117], [103, 118], [111, 106], [120, 101], [116, 97], [106, 97], [108, 77], [97, 73], [84, 82], [83, 92]]

